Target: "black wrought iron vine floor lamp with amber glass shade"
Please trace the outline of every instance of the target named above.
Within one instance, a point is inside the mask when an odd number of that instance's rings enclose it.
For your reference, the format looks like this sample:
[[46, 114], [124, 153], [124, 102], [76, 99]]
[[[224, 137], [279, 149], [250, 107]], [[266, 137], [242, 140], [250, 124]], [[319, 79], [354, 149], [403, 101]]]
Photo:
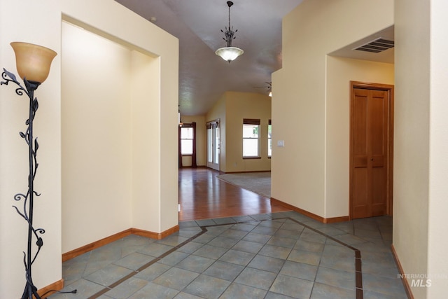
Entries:
[[[27, 252], [24, 251], [23, 263], [25, 264], [25, 277], [26, 284], [25, 290], [23, 291], [22, 299], [41, 299], [37, 293], [37, 288], [34, 286], [33, 279], [31, 277], [31, 265], [33, 265], [34, 260], [41, 251], [43, 246], [43, 239], [41, 235], [45, 233], [43, 228], [34, 228], [33, 226], [33, 207], [34, 207], [34, 196], [39, 196], [39, 194], [34, 190], [34, 178], [36, 176], [36, 171], [38, 167], [36, 153], [38, 150], [37, 138], [33, 136], [33, 120], [36, 116], [36, 111], [38, 109], [37, 98], [34, 97], [34, 90], [38, 88], [43, 81], [48, 77], [50, 72], [50, 65], [53, 58], [57, 55], [55, 51], [48, 48], [37, 46], [31, 43], [11, 43], [11, 46], [15, 52], [15, 60], [20, 78], [23, 78], [25, 88], [18, 82], [15, 75], [3, 69], [1, 74], [2, 81], [0, 85], [8, 85], [8, 83], [13, 82], [18, 85], [15, 93], [18, 95], [27, 95], [29, 98], [29, 118], [25, 122], [27, 125], [27, 130], [20, 132], [20, 137], [25, 139], [28, 145], [28, 158], [29, 158], [29, 176], [28, 176], [28, 191], [27, 193], [17, 193], [14, 195], [14, 200], [23, 202], [22, 209], [17, 206], [13, 206], [22, 218], [28, 223], [28, 246]], [[33, 253], [33, 239], [36, 239], [37, 249]]]

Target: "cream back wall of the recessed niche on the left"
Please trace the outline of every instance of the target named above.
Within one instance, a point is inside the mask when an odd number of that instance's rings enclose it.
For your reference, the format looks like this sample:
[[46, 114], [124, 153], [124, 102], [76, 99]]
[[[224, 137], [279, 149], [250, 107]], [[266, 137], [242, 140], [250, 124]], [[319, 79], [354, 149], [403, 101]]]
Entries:
[[131, 227], [132, 69], [130, 50], [65, 22], [61, 50], [66, 252]]

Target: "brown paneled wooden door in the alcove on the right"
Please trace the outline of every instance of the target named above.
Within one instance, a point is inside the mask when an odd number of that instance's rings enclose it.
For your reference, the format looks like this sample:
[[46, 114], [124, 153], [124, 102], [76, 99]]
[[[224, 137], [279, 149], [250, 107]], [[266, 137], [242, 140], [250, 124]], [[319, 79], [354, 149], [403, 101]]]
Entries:
[[352, 85], [351, 218], [391, 212], [392, 95], [391, 85]]

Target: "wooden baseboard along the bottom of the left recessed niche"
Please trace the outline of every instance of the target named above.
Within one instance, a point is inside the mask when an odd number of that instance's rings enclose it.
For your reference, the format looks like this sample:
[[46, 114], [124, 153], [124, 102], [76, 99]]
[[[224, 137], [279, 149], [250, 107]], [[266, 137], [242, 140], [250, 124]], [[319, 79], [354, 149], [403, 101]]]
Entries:
[[127, 237], [128, 235], [139, 235], [141, 237], [148, 237], [151, 239], [162, 239], [162, 238], [172, 235], [174, 232], [178, 232], [178, 231], [179, 231], [179, 224], [175, 225], [174, 227], [169, 228], [168, 230], [165, 230], [163, 232], [150, 232], [148, 230], [141, 230], [139, 228], [128, 228], [127, 230], [123, 230], [123, 232], [118, 232], [109, 237], [99, 239], [98, 241], [92, 242], [90, 244], [81, 246], [77, 249], [73, 249], [71, 251], [63, 253], [62, 254], [62, 262], [65, 262], [66, 260], [71, 260], [72, 258], [76, 258], [76, 256], [80, 256], [81, 254], [84, 254], [88, 251], [92, 251], [93, 249], [97, 249], [101, 246], [104, 246], [106, 244], [114, 242], [118, 239]]

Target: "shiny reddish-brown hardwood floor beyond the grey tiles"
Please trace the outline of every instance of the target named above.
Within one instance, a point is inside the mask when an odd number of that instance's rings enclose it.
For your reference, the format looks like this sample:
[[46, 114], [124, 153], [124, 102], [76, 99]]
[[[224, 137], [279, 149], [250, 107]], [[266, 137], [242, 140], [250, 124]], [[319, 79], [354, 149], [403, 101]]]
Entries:
[[208, 168], [179, 169], [179, 221], [290, 211], [269, 198], [221, 181]]

